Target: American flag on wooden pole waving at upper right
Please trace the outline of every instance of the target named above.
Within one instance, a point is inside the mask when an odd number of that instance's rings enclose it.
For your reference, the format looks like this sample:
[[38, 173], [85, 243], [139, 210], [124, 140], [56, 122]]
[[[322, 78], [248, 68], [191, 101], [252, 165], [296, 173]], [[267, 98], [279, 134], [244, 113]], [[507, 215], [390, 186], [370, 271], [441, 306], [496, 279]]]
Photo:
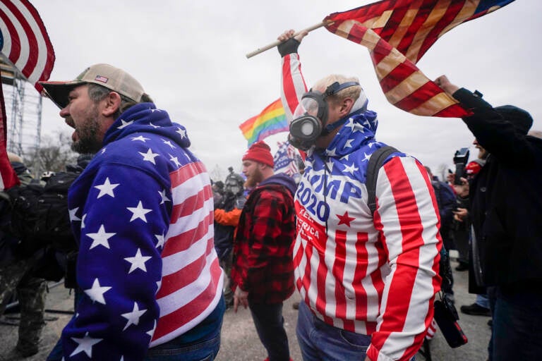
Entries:
[[367, 47], [387, 100], [420, 116], [468, 114], [416, 67], [445, 32], [514, 0], [383, 0], [325, 18], [336, 35]]

